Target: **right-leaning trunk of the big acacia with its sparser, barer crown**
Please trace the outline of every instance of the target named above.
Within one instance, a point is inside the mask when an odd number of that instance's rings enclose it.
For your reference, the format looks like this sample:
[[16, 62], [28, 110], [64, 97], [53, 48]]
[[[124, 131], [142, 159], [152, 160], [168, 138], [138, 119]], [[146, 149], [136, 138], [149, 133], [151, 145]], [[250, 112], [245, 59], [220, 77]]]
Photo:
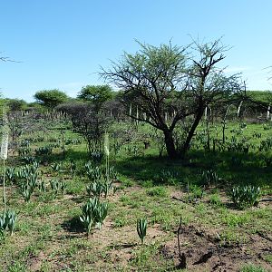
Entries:
[[195, 54], [189, 57], [188, 90], [185, 92], [191, 98], [191, 107], [194, 108], [194, 118], [190, 124], [186, 140], [181, 153], [189, 150], [189, 144], [199, 125], [205, 109], [219, 107], [224, 104], [238, 102], [238, 93], [242, 92], [244, 85], [239, 74], [227, 76], [224, 69], [217, 65], [225, 59], [228, 47], [221, 44], [220, 39], [213, 43], [199, 44], [195, 42], [190, 46]]

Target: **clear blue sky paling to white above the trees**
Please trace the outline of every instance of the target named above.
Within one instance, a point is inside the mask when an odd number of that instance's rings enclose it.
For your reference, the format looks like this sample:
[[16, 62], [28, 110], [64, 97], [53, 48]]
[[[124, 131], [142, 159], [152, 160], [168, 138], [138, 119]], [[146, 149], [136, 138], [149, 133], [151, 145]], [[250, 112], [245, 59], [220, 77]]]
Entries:
[[[0, 0], [0, 92], [33, 101], [57, 88], [70, 96], [102, 84], [100, 66], [147, 44], [186, 45], [223, 36], [224, 66], [249, 90], [271, 90], [271, 0]], [[191, 36], [191, 37], [190, 37]], [[270, 73], [272, 73], [270, 71]]]

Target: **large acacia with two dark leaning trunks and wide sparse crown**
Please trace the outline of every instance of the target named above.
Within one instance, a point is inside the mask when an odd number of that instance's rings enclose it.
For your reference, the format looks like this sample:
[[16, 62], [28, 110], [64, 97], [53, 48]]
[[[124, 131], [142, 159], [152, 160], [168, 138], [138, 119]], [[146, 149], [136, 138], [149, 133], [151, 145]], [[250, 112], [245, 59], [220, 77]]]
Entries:
[[[239, 89], [236, 75], [227, 77], [216, 64], [225, 58], [226, 47], [217, 40], [212, 44], [193, 43], [186, 47], [140, 44], [135, 54], [124, 53], [112, 68], [102, 69], [102, 76], [122, 90], [122, 102], [137, 104], [148, 115], [131, 115], [150, 123], [164, 134], [170, 158], [189, 150], [189, 143], [205, 108], [211, 102], [228, 99]], [[187, 50], [195, 50], [191, 55]], [[171, 112], [167, 120], [165, 112]], [[179, 121], [190, 116], [192, 122], [181, 150], [178, 151], [173, 131]]]

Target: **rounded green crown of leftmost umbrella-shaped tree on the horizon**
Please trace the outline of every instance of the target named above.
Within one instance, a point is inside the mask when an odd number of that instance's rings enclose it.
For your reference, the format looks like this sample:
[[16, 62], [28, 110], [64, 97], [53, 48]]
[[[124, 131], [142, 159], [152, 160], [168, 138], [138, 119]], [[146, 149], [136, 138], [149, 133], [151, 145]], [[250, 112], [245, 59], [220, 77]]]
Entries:
[[44, 107], [52, 110], [57, 105], [66, 102], [69, 98], [65, 92], [54, 89], [36, 92], [34, 99]]

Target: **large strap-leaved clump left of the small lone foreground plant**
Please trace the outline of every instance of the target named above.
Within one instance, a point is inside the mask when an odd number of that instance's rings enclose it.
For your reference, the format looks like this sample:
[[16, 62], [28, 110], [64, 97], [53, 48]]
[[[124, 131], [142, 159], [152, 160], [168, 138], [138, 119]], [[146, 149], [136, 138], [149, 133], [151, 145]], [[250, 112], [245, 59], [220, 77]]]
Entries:
[[84, 228], [86, 228], [87, 235], [89, 235], [93, 227], [102, 228], [102, 223], [108, 215], [108, 204], [100, 202], [97, 198], [89, 199], [83, 205], [82, 212], [80, 220], [83, 222]]

